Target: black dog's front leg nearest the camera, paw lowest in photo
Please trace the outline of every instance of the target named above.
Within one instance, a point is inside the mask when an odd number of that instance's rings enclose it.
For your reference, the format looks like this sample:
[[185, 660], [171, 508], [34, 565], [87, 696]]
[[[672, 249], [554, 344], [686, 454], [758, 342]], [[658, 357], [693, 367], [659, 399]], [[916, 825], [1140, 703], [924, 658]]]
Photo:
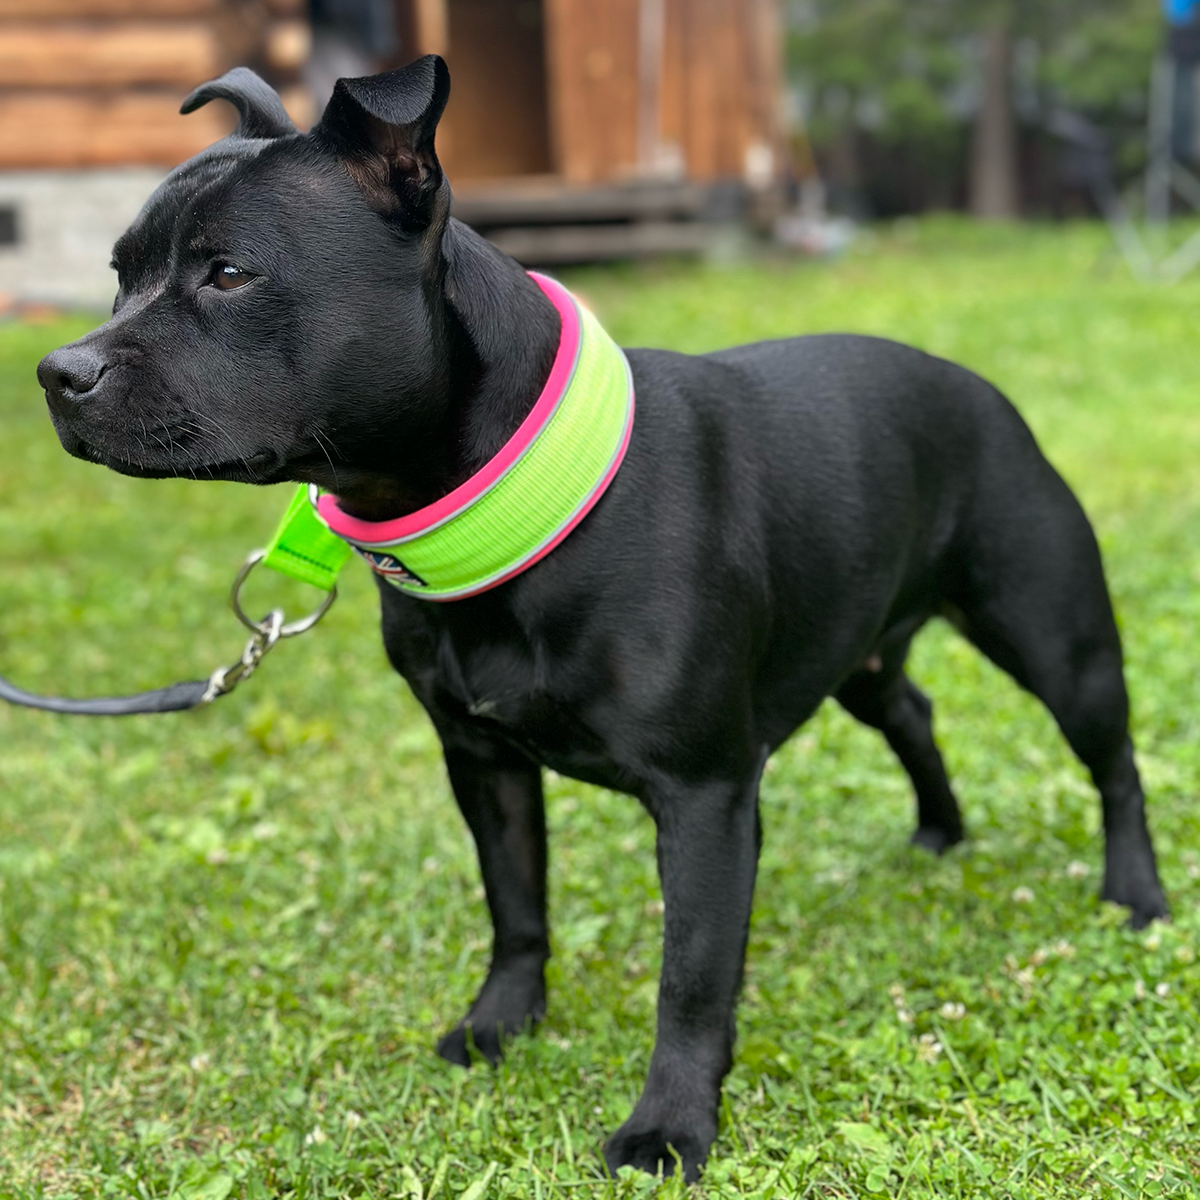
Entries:
[[716, 1138], [721, 1080], [733, 1061], [733, 1009], [742, 984], [758, 863], [757, 769], [737, 782], [655, 788], [664, 946], [658, 1038], [642, 1097], [608, 1139], [616, 1174], [671, 1174], [691, 1182]]

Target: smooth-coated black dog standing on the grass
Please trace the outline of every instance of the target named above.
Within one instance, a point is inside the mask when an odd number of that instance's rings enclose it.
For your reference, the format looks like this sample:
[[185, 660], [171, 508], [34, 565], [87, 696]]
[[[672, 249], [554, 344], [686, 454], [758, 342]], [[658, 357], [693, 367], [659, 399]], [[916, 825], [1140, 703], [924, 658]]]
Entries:
[[[556, 311], [450, 220], [440, 59], [344, 79], [296, 133], [235, 71], [196, 91], [238, 132], [175, 170], [116, 244], [113, 318], [38, 368], [62, 444], [131, 475], [307, 480], [366, 520], [415, 510], [512, 434]], [[636, 796], [666, 902], [658, 1040], [616, 1170], [694, 1178], [716, 1135], [760, 845], [758, 780], [829, 695], [912, 776], [914, 840], [962, 822], [904, 673], [948, 617], [1049, 707], [1104, 809], [1103, 895], [1165, 905], [1096, 540], [1008, 402], [868, 337], [628, 355], [637, 418], [612, 486], [532, 570], [425, 604], [380, 586], [396, 670], [432, 718], [496, 938], [439, 1043], [488, 1058], [545, 1006], [542, 764]]]

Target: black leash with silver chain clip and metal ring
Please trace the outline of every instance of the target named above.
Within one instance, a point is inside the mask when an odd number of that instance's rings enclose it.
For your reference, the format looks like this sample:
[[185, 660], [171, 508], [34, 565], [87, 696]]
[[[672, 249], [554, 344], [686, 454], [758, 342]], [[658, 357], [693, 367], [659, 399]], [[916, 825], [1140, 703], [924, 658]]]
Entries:
[[251, 630], [250, 641], [241, 658], [228, 667], [217, 667], [208, 679], [173, 683], [168, 688], [134, 692], [132, 696], [98, 696], [95, 700], [66, 700], [61, 696], [37, 696], [11, 684], [0, 676], [0, 700], [22, 708], [40, 708], [47, 713], [66, 713], [73, 716], [131, 716], [136, 713], [182, 713], [190, 708], [204, 708], [221, 696], [228, 696], [244, 679], [248, 679], [275, 643], [284, 637], [305, 634], [329, 612], [337, 599], [332, 588], [316, 612], [301, 620], [286, 623], [282, 608], [272, 608], [262, 620], [251, 620], [241, 607], [241, 586], [246, 576], [263, 560], [264, 551], [256, 550], [246, 559], [238, 578], [234, 580], [230, 602], [238, 619]]

